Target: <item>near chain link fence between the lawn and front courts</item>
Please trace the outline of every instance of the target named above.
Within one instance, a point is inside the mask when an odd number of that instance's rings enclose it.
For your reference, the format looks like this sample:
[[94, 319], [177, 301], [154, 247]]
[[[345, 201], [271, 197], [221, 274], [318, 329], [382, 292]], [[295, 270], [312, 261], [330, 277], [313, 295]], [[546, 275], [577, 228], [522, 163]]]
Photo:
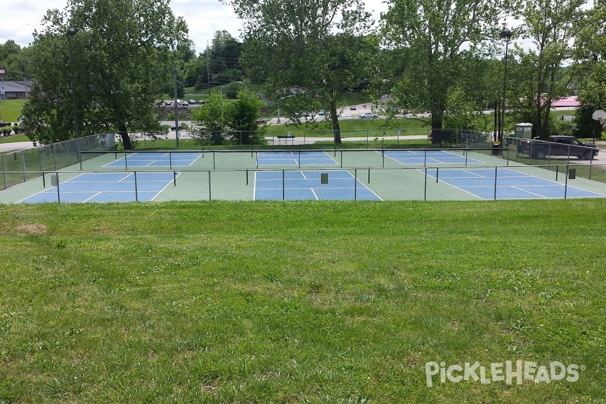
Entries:
[[[504, 200], [606, 197], [590, 167], [276, 168], [22, 172], [0, 202], [161, 200]], [[604, 165], [594, 167], [605, 172]]]

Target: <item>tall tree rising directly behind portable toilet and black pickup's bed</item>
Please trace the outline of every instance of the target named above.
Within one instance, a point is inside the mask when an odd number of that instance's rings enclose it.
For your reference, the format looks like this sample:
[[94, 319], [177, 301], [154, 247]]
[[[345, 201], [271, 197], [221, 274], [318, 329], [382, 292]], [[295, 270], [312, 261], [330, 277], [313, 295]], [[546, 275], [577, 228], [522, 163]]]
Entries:
[[585, 0], [531, 0], [526, 3], [518, 28], [532, 47], [514, 50], [517, 64], [512, 66], [510, 102], [517, 110], [531, 114], [534, 135], [547, 139], [550, 134], [551, 104], [570, 95], [576, 71], [562, 65], [573, 57], [572, 41], [578, 33], [581, 7]]

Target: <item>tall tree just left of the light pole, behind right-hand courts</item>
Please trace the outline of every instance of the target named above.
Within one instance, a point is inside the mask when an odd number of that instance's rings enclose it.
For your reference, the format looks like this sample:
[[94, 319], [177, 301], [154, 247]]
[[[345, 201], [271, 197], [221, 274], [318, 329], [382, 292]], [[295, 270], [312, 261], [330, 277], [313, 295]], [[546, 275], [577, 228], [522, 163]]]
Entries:
[[[412, 111], [430, 111], [439, 141], [451, 91], [466, 87], [465, 59], [496, 37], [494, 24], [515, 10], [514, 0], [391, 0], [384, 15], [385, 45], [402, 58], [391, 96]], [[490, 51], [490, 49], [487, 49]]]

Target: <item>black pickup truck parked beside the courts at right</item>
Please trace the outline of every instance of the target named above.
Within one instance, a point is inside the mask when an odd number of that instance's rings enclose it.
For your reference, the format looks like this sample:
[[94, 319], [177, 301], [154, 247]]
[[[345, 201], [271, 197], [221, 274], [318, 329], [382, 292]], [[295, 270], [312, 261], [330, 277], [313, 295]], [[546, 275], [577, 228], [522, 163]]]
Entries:
[[535, 159], [547, 156], [576, 156], [579, 159], [593, 159], [598, 156], [598, 145], [584, 143], [573, 136], [549, 136], [548, 141], [520, 139], [518, 152], [531, 155]]

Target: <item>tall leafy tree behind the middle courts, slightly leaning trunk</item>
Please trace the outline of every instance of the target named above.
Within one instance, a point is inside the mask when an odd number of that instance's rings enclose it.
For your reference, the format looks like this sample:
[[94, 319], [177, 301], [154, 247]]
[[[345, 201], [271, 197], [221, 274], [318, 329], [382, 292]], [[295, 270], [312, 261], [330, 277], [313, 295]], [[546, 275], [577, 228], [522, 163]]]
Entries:
[[[248, 70], [267, 74], [265, 96], [288, 107], [291, 118], [328, 111], [335, 143], [341, 143], [338, 97], [371, 75], [375, 38], [364, 3], [347, 0], [291, 2], [231, 0], [244, 20]], [[296, 89], [296, 90], [293, 90]]]

